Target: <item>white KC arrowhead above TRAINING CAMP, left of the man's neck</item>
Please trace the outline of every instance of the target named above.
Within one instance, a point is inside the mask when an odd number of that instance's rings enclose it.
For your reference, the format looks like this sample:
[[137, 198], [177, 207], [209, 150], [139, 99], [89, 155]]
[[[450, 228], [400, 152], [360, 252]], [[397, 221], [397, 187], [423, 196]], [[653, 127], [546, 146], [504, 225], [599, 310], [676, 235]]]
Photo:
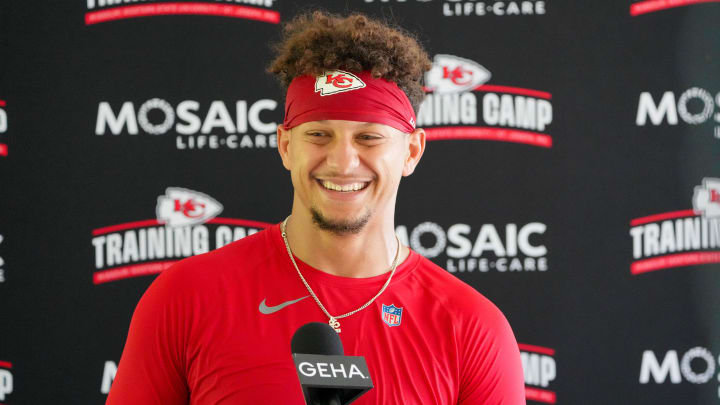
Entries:
[[168, 187], [158, 197], [158, 221], [169, 226], [202, 224], [223, 210], [222, 204], [207, 194], [180, 187]]

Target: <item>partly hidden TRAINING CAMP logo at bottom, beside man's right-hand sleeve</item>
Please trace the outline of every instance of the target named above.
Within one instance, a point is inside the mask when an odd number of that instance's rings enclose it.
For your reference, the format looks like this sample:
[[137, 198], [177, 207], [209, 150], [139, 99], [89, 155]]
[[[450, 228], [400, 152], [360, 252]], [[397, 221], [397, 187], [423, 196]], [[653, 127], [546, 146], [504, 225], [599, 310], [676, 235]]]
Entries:
[[555, 349], [518, 343], [520, 360], [525, 374], [525, 399], [554, 404], [557, 394], [550, 385], [557, 377]]

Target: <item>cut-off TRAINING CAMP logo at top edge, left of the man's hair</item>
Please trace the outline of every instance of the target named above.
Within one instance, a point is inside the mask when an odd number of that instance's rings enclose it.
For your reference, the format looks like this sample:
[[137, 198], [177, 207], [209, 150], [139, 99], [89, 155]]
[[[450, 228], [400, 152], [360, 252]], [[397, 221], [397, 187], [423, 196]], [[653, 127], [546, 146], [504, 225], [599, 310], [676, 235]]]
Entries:
[[[253, 4], [272, 7], [275, 0], [254, 1]], [[127, 3], [125, 1], [124, 3]], [[208, 1], [175, 2], [149, 0], [145, 4], [119, 5], [121, 1], [87, 0], [85, 25], [158, 15], [205, 15], [241, 18], [272, 24], [280, 22], [280, 13], [261, 7], [216, 4]], [[247, 2], [246, 2], [247, 3]]]

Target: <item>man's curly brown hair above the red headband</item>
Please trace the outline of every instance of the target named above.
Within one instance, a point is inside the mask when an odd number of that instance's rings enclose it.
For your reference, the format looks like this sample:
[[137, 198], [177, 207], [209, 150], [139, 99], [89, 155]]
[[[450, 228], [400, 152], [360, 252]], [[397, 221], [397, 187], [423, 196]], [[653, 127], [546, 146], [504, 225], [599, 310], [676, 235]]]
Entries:
[[359, 13], [298, 15], [285, 24], [282, 40], [274, 48], [277, 57], [267, 70], [284, 87], [296, 76], [317, 76], [325, 70], [367, 70], [375, 78], [395, 82], [416, 113], [425, 97], [423, 74], [432, 67], [411, 34]]

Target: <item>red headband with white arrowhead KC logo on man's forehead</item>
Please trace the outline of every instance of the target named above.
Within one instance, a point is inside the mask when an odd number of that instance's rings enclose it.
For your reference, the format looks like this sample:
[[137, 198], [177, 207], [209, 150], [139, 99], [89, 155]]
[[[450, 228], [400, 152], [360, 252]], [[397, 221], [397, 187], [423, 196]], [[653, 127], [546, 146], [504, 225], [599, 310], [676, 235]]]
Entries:
[[290, 129], [321, 120], [376, 122], [405, 133], [415, 129], [415, 111], [405, 92], [369, 71], [332, 70], [293, 79], [285, 98], [283, 126]]

